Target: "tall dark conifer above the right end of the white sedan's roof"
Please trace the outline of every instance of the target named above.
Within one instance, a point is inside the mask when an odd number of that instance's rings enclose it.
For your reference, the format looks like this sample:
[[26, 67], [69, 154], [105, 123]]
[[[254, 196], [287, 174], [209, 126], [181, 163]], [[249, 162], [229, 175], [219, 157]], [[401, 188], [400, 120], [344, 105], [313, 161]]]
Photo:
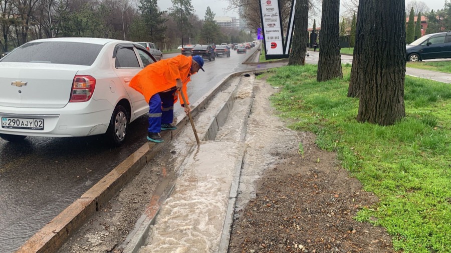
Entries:
[[144, 29], [147, 33], [146, 40], [162, 41], [164, 39], [164, 31], [166, 26], [166, 18], [163, 16], [166, 11], [159, 11], [157, 0], [140, 0], [139, 10], [141, 17], [146, 25]]

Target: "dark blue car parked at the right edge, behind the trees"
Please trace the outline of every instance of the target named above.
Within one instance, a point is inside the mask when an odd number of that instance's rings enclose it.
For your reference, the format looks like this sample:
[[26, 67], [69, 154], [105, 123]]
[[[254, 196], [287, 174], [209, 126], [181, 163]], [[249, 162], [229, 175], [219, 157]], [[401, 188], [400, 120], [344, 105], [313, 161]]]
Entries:
[[451, 31], [424, 35], [406, 45], [407, 61], [451, 58]]

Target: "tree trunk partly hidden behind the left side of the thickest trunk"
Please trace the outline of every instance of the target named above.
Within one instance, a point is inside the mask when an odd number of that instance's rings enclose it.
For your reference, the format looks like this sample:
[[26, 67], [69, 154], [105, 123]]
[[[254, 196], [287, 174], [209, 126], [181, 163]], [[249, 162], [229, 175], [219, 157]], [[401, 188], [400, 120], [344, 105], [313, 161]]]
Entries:
[[365, 15], [360, 15], [359, 13], [363, 13], [363, 5], [360, 4], [357, 11], [357, 21], [355, 24], [355, 44], [354, 44], [354, 53], [352, 56], [352, 67], [351, 67], [351, 79], [349, 80], [348, 87], [348, 97], [359, 97], [360, 92], [360, 80], [359, 73], [364, 73], [364, 69], [358, 69], [361, 66], [360, 61], [363, 59], [364, 51], [363, 51], [363, 39], [364, 31], [363, 31], [363, 23], [365, 22]]

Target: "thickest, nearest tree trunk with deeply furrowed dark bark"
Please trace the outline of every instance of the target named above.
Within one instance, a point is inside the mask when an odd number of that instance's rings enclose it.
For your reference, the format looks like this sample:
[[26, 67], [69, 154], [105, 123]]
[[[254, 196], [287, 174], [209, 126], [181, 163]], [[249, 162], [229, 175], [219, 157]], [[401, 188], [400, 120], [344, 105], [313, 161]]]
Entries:
[[404, 4], [404, 0], [360, 0], [359, 15], [366, 15], [362, 29], [371, 35], [363, 39], [365, 57], [358, 67], [365, 69], [359, 73], [359, 122], [391, 125], [405, 116]]

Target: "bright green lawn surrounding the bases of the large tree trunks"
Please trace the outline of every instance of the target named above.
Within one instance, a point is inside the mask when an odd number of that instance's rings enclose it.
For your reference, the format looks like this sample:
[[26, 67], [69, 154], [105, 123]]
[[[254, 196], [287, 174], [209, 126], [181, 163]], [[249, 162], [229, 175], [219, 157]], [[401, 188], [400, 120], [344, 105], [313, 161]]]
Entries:
[[[451, 86], [406, 76], [406, 117], [391, 126], [358, 123], [358, 99], [343, 80], [316, 81], [316, 65], [271, 70], [273, 105], [290, 128], [317, 134], [341, 166], [380, 201], [355, 217], [385, 227], [395, 250], [451, 252]], [[294, 120], [294, 121], [292, 121]]]

